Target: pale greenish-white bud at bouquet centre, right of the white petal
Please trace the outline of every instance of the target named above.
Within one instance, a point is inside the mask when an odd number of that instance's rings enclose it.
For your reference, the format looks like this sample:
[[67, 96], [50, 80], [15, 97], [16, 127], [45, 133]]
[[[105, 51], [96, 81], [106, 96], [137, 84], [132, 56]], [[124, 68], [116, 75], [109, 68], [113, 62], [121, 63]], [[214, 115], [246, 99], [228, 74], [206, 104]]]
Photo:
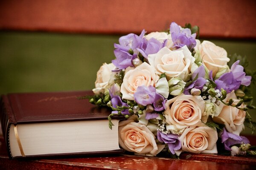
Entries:
[[172, 96], [178, 96], [183, 93], [186, 82], [183, 82], [179, 77], [172, 78], [168, 81], [169, 93]]

